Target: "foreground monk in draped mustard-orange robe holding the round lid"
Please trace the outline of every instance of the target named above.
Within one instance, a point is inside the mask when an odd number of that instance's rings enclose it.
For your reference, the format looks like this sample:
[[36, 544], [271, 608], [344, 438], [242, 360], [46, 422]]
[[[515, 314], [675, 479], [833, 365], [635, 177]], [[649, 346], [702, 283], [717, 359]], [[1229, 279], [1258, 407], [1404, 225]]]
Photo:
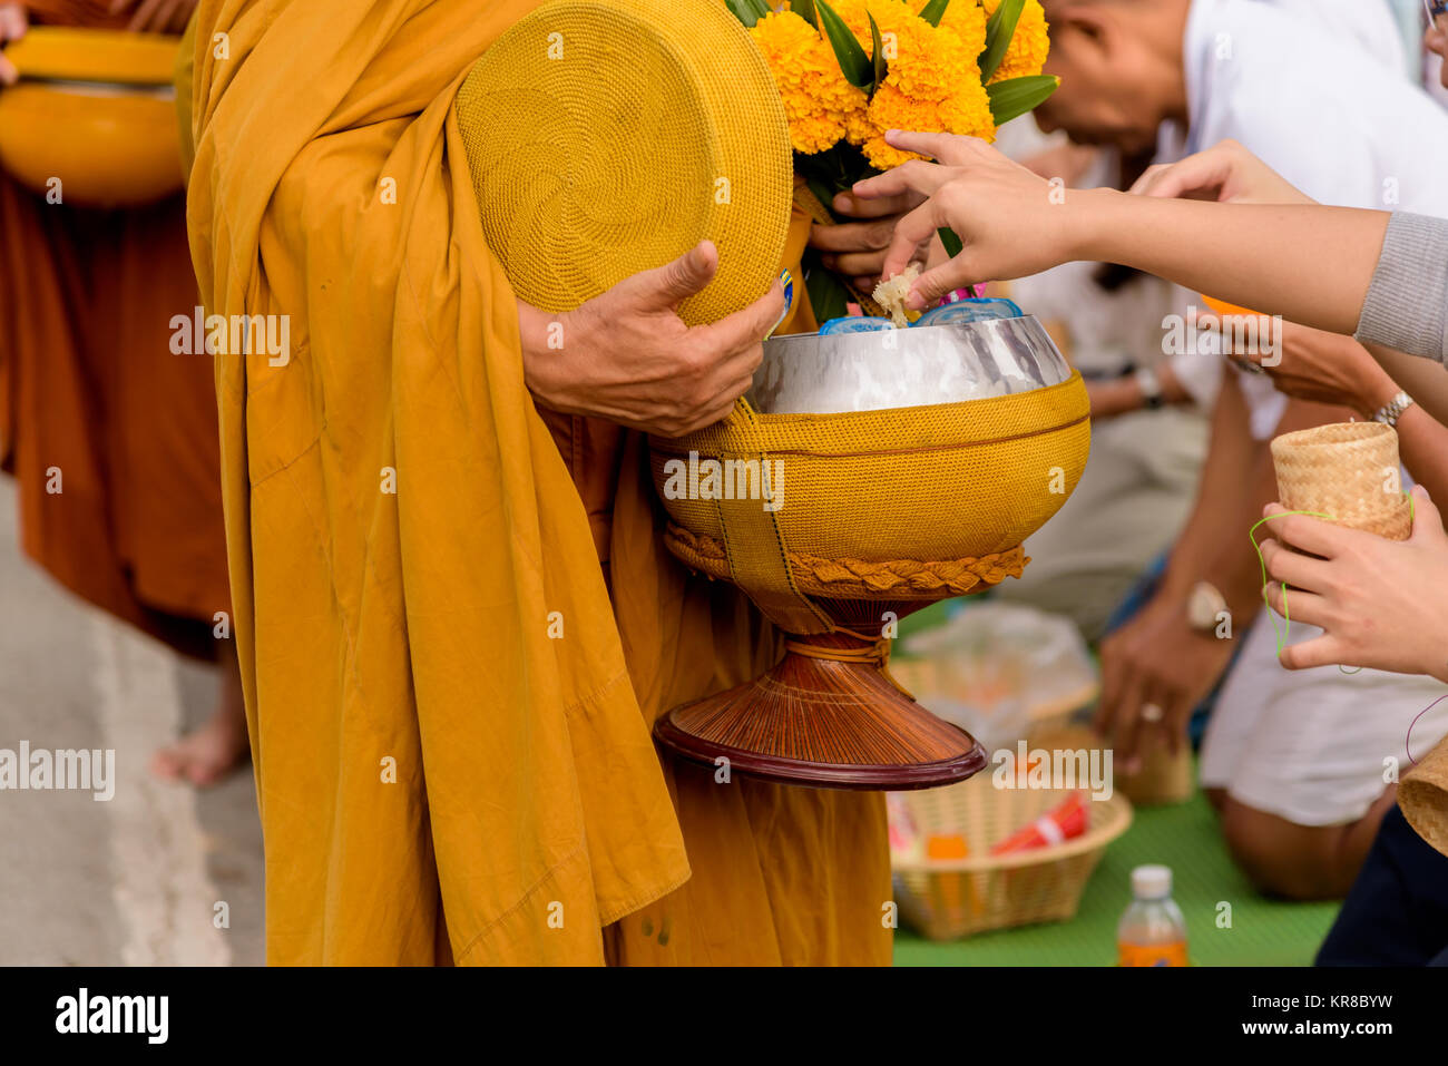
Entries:
[[721, 417], [783, 297], [686, 327], [705, 242], [563, 316], [517, 300], [452, 103], [534, 6], [197, 10], [203, 303], [290, 336], [216, 356], [268, 957], [888, 963], [879, 794], [650, 740], [779, 649], [663, 549], [640, 430]]

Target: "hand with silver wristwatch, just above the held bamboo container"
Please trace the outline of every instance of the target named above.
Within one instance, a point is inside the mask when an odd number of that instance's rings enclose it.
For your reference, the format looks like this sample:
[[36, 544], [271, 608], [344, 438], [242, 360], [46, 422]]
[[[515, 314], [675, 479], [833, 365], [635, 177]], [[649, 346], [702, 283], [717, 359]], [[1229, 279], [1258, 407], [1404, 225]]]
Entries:
[[[1387, 375], [1373, 353], [1352, 337], [1323, 333], [1318, 329], [1281, 322], [1280, 337], [1260, 336], [1264, 323], [1274, 319], [1254, 316], [1258, 333], [1247, 333], [1232, 322], [1241, 316], [1218, 319], [1197, 314], [1197, 329], [1216, 330], [1222, 336], [1222, 355], [1247, 368], [1261, 368], [1273, 385], [1297, 400], [1351, 407], [1363, 419], [1371, 419], [1389, 400], [1397, 395], [1397, 384]], [[1242, 339], [1247, 343], [1237, 343]]]

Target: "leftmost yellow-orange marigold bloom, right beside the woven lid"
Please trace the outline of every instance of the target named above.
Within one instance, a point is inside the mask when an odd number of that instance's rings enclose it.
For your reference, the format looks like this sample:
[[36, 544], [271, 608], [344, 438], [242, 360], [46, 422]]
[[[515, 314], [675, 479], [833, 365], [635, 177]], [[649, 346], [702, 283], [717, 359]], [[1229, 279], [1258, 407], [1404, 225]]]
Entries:
[[794, 12], [773, 12], [749, 30], [775, 75], [789, 119], [789, 142], [814, 155], [844, 139], [864, 113], [864, 93], [840, 72], [834, 49]]

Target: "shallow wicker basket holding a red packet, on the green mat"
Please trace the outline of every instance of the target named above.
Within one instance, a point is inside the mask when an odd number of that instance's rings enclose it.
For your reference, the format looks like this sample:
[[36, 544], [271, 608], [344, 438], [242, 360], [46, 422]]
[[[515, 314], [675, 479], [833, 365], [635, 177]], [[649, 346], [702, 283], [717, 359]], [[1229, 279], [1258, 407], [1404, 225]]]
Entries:
[[964, 859], [895, 859], [901, 915], [931, 940], [1073, 918], [1106, 844], [1131, 826], [1131, 801], [1115, 794], [1087, 804], [1085, 834], [1056, 847], [992, 856], [992, 846], [1070, 792], [995, 788], [986, 771], [950, 788], [902, 795], [922, 836], [960, 833], [975, 849]]

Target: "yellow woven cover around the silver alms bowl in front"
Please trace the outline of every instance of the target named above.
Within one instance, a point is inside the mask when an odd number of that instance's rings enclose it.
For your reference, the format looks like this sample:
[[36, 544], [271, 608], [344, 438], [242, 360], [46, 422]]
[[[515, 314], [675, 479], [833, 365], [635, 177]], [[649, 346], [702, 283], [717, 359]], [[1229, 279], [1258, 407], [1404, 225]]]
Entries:
[[[682, 439], [652, 439], [653, 477], [663, 487], [665, 465], [691, 462], [691, 452], [695, 462], [759, 461], [752, 443], [760, 439], [782, 471], [776, 517], [792, 562], [985, 561], [1018, 549], [1066, 503], [1090, 450], [1089, 413], [1074, 375], [1032, 393], [934, 407], [759, 414], [757, 437], [730, 417]], [[725, 491], [737, 484], [725, 475]], [[665, 494], [669, 517], [695, 537], [723, 542], [715, 501], [692, 495]]]

